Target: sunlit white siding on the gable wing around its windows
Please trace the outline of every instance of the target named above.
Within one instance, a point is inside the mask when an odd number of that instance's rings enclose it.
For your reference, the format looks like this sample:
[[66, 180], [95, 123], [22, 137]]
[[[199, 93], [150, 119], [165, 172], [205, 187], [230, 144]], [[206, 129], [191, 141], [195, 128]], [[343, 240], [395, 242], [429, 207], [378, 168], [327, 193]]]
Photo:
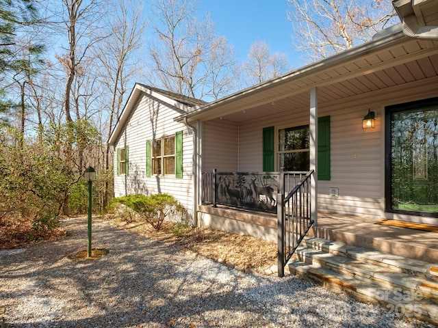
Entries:
[[[139, 97], [114, 146], [117, 149], [129, 145], [129, 176], [114, 177], [116, 197], [133, 193], [170, 193], [192, 215], [193, 133], [184, 124], [174, 121], [179, 115], [181, 109], [169, 108], [164, 102], [157, 102], [149, 96]], [[176, 178], [175, 174], [146, 178], [146, 140], [175, 136], [177, 131], [183, 131], [183, 178]]]

